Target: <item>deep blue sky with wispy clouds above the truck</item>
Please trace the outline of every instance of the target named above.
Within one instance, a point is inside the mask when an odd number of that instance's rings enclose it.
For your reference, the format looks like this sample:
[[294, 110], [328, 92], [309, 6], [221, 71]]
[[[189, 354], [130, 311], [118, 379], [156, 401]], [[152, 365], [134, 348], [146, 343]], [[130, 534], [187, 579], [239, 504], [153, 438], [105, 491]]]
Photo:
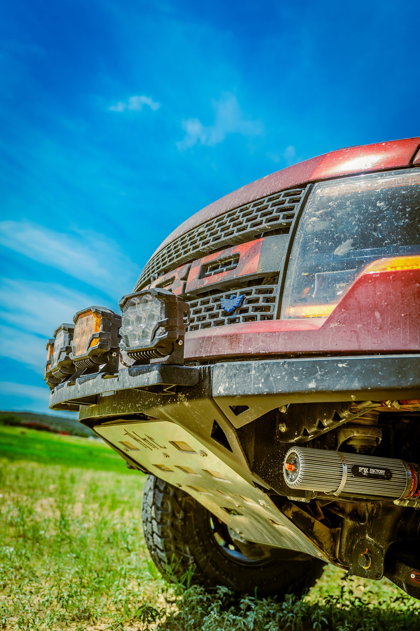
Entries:
[[117, 309], [247, 182], [420, 135], [416, 2], [23, 0], [0, 9], [0, 408], [48, 411], [45, 341]]

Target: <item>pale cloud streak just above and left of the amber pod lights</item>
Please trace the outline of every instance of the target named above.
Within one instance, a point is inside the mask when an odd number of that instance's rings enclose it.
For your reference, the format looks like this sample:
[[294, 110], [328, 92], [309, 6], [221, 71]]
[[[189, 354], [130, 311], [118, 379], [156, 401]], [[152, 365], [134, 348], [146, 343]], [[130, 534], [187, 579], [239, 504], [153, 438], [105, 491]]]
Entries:
[[62, 322], [72, 322], [76, 311], [102, 303], [101, 298], [57, 283], [0, 279], [0, 317], [45, 338], [51, 338]]

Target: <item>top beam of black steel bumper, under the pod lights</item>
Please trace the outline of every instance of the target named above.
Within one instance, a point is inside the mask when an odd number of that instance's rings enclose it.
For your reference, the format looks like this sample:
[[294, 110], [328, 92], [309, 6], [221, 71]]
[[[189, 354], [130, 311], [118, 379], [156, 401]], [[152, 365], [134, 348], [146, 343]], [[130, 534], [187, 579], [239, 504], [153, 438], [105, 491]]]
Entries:
[[[122, 369], [112, 379], [94, 374], [79, 377], [72, 386], [64, 383], [52, 392], [50, 408], [78, 410], [80, 406], [84, 418], [109, 416], [112, 402], [118, 401], [114, 413], [127, 415], [139, 411], [139, 396], [155, 408], [174, 398], [188, 398], [188, 392], [197, 387], [200, 398], [213, 399], [239, 428], [288, 403], [420, 398], [420, 355], [259, 360], [200, 367], [145, 365]], [[132, 397], [127, 397], [129, 392]], [[130, 401], [136, 401], [132, 409]], [[248, 409], [236, 415], [232, 407], [238, 405]]]

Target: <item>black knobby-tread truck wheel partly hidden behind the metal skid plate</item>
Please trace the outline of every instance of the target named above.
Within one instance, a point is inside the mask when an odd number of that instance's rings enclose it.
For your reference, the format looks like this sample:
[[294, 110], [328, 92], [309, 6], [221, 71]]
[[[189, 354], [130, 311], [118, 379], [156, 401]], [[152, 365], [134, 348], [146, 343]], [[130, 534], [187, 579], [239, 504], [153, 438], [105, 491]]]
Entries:
[[300, 596], [324, 569], [324, 562], [309, 555], [233, 538], [236, 533], [191, 495], [154, 475], [145, 483], [142, 521], [150, 555], [169, 581], [194, 568], [191, 583], [205, 588], [224, 585], [241, 594], [257, 590], [261, 598]]

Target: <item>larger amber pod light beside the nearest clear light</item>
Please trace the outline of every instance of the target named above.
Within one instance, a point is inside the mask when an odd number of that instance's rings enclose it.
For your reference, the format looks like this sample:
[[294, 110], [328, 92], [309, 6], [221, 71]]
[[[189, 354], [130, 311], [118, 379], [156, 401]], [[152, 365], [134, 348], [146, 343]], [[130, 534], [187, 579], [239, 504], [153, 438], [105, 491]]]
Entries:
[[103, 364], [103, 372], [118, 372], [121, 316], [105, 307], [88, 307], [78, 311], [73, 320], [71, 359], [77, 374], [85, 369], [94, 372]]

